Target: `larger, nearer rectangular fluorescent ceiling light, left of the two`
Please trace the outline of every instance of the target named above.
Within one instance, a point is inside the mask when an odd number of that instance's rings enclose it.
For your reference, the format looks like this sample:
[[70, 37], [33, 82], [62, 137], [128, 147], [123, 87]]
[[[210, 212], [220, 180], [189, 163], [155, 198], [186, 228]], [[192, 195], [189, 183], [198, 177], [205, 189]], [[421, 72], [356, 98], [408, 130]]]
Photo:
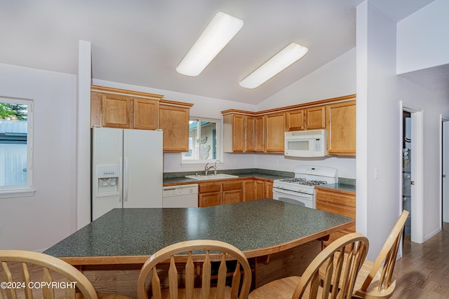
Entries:
[[243, 27], [243, 20], [218, 12], [177, 66], [186, 76], [198, 76]]

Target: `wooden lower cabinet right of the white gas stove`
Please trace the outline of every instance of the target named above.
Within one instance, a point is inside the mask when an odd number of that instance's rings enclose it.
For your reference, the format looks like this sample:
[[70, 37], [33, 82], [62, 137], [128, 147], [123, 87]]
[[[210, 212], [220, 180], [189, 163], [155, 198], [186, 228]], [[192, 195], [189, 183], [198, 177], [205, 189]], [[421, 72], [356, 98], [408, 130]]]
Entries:
[[[316, 187], [316, 209], [328, 211], [333, 214], [339, 214], [356, 219], [356, 195], [340, 190]], [[323, 241], [324, 246], [339, 237], [356, 231], [356, 225], [351, 226], [340, 232], [335, 232], [329, 236], [329, 239]]]

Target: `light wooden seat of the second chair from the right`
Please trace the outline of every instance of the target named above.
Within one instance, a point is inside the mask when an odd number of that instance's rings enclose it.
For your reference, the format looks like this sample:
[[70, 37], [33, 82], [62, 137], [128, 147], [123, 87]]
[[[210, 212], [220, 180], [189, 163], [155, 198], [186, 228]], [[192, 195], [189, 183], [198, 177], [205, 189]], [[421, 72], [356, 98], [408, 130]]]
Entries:
[[268, 284], [264, 284], [263, 286], [260, 286], [252, 291], [248, 296], [248, 299], [291, 299], [300, 278], [301, 277], [299, 276], [290, 276], [271, 281]]

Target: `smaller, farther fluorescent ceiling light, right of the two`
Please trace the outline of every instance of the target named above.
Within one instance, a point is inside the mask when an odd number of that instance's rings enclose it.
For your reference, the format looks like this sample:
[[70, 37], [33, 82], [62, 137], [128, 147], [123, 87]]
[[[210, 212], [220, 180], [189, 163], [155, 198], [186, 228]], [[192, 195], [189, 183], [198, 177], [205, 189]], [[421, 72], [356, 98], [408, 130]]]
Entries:
[[250, 89], [259, 87], [270, 78], [276, 76], [276, 74], [290, 67], [297, 60], [300, 60], [307, 54], [308, 50], [307, 47], [301, 46], [298, 43], [290, 43], [286, 48], [283, 48], [279, 53], [253, 71], [253, 73], [240, 81], [240, 86]]

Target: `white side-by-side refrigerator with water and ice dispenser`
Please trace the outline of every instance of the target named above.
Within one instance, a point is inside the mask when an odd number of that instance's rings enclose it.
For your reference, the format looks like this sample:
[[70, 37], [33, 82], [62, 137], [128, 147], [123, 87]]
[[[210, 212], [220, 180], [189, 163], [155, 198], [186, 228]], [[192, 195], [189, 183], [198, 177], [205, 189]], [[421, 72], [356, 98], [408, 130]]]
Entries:
[[162, 207], [161, 130], [92, 129], [92, 221], [114, 208]]

